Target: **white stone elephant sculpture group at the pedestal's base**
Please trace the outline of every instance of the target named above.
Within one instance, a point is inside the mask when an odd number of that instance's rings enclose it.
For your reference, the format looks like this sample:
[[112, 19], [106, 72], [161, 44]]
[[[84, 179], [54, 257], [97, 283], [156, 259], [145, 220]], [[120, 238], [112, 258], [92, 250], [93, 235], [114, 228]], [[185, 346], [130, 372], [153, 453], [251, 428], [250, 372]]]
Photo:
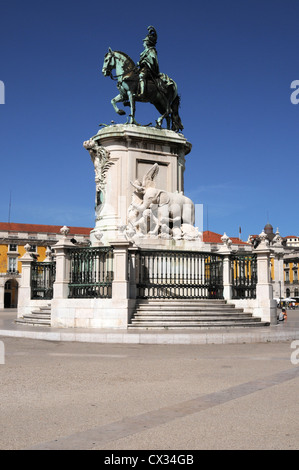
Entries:
[[194, 204], [184, 194], [156, 188], [159, 165], [155, 163], [145, 174], [142, 183], [131, 182], [135, 191], [128, 209], [128, 238], [160, 237], [165, 239], [196, 240]]

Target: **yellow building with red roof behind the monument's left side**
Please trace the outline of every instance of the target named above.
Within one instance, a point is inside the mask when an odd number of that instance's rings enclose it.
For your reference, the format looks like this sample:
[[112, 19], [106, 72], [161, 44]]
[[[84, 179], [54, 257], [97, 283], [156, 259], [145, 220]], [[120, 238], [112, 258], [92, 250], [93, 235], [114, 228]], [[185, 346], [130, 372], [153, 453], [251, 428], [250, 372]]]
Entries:
[[[61, 226], [32, 225], [0, 222], [0, 309], [16, 308], [21, 279], [24, 246], [29, 244], [38, 261], [46, 258], [47, 248], [62, 237]], [[70, 238], [77, 243], [89, 242], [91, 228], [69, 227]]]

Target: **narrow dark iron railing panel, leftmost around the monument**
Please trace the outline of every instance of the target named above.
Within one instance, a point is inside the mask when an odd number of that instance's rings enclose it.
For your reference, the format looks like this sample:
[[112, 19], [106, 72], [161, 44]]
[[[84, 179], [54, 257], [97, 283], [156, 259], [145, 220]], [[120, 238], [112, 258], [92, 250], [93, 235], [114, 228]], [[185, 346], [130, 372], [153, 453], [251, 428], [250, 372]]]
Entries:
[[31, 298], [52, 299], [56, 263], [35, 261], [32, 263], [31, 268]]

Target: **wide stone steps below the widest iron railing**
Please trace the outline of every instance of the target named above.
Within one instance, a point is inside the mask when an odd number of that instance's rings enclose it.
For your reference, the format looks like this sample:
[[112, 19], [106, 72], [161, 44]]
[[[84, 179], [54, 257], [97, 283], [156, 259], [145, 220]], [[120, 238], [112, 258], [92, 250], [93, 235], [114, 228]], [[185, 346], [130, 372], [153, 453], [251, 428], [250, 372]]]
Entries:
[[268, 326], [225, 300], [147, 299], [136, 303], [129, 329], [248, 328]]

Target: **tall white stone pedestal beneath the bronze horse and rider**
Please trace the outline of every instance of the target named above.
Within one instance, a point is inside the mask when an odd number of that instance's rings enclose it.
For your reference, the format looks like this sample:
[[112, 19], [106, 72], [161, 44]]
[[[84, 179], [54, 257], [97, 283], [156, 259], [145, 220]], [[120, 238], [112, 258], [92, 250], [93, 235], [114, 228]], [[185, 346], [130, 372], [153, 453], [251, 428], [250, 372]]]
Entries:
[[181, 134], [166, 129], [122, 125], [104, 127], [84, 142], [95, 167], [96, 224], [93, 246], [110, 244], [127, 224], [134, 187], [155, 164], [156, 185], [170, 192], [184, 191], [185, 156], [191, 144]]

